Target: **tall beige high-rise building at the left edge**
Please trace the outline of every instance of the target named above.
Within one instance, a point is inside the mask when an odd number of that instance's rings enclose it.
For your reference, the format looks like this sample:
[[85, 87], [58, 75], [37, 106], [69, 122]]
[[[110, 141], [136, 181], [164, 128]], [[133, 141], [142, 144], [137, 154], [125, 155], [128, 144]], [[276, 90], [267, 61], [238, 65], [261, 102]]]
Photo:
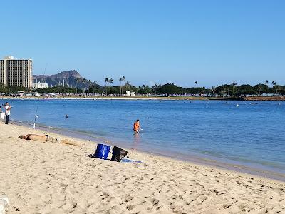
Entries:
[[0, 83], [5, 86], [33, 87], [33, 61], [6, 56], [0, 60]]

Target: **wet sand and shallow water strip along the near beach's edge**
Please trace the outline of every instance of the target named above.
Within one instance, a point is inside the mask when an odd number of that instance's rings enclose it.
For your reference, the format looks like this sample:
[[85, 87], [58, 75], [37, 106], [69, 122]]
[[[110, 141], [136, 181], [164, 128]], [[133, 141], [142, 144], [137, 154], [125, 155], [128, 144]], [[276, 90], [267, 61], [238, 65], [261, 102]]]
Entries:
[[[33, 124], [20, 123], [20, 122], [13, 121], [13, 125], [32, 128]], [[55, 127], [49, 128], [48, 126], [44, 126], [44, 125], [36, 126], [36, 127], [37, 127], [36, 130], [39, 130], [39, 131], [46, 131], [48, 133], [54, 133], [56, 135], [66, 136], [66, 137], [70, 136], [72, 138], [77, 138], [79, 140], [89, 141], [90, 143], [94, 143], [94, 142], [104, 143], [104, 142], [98, 142], [99, 139], [101, 139], [101, 141], [108, 141], [108, 139], [105, 139], [103, 137], [87, 136], [84, 133], [77, 133], [76, 131], [70, 131], [70, 130], [66, 130], [63, 128], [55, 128]], [[108, 141], [108, 143], [105, 143], [105, 144], [109, 144], [110, 146], [120, 146], [125, 149], [138, 151], [139, 153], [145, 153], [145, 154], [149, 154], [152, 156], [171, 158], [172, 160], [185, 161], [190, 164], [195, 163], [198, 165], [203, 165], [205, 167], [214, 167], [214, 168], [219, 168], [223, 170], [230, 170], [230, 171], [237, 172], [237, 173], [246, 173], [248, 175], [255, 175], [261, 178], [269, 178], [269, 179], [285, 182], [284, 173], [279, 173], [274, 170], [266, 170], [265, 168], [254, 168], [252, 166], [242, 165], [242, 163], [226, 163], [227, 159], [219, 160], [218, 158], [215, 159], [214, 157], [206, 158], [199, 154], [192, 154], [192, 156], [185, 156], [180, 153], [177, 153], [175, 155], [175, 153], [162, 153], [159, 151], [157, 152], [142, 151], [142, 150], [137, 150], [136, 148], [133, 148], [132, 146], [128, 146], [124, 143], [116, 144], [115, 142], [111, 142], [111, 141]]]

